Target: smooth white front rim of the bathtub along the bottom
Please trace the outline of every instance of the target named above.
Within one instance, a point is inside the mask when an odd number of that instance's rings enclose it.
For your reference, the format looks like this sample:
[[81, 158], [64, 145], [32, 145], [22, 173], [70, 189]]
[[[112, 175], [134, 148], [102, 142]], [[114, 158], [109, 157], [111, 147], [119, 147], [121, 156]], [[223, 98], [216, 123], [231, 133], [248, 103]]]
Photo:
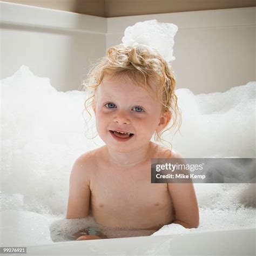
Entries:
[[255, 255], [255, 229], [58, 242], [29, 255]]

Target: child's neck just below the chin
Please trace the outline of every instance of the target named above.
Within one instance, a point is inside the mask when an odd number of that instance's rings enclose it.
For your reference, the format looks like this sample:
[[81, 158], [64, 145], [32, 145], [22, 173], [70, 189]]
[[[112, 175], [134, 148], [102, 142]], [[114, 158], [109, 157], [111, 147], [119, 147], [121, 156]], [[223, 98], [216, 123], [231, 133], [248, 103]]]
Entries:
[[151, 157], [151, 148], [151, 142], [132, 152], [117, 152], [111, 149], [109, 146], [105, 146], [107, 159], [109, 159], [111, 164], [118, 167], [133, 167], [134, 165], [143, 163]]

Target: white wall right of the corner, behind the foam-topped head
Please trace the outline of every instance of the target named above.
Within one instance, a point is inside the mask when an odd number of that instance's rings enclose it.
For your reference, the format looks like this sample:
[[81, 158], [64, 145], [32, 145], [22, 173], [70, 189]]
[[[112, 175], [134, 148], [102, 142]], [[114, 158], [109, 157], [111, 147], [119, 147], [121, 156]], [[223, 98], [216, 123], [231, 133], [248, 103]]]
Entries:
[[174, 23], [177, 87], [196, 94], [224, 92], [256, 80], [255, 15], [252, 7], [107, 18], [106, 46], [119, 43], [124, 29], [136, 22]]

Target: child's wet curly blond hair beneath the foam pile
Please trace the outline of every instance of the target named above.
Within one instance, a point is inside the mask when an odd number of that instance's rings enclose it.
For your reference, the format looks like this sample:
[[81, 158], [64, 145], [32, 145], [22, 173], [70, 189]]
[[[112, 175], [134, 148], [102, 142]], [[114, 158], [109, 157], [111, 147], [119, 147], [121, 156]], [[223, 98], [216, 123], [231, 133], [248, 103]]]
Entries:
[[172, 130], [174, 135], [179, 130], [181, 125], [180, 110], [177, 105], [177, 96], [174, 93], [176, 78], [173, 75], [171, 65], [156, 50], [142, 44], [132, 48], [119, 44], [107, 49], [106, 56], [92, 66], [86, 81], [83, 83], [84, 89], [90, 91], [90, 96], [84, 103], [85, 110], [89, 114], [89, 107], [95, 104], [97, 87], [102, 83], [105, 76], [110, 78], [125, 76], [131, 80], [132, 84], [147, 90], [152, 89], [150, 82], [153, 81], [153, 86], [157, 86], [157, 98], [162, 105], [162, 113], [165, 111], [171, 113], [169, 125], [160, 133], [156, 131], [154, 139], [166, 142], [162, 137], [164, 132]]

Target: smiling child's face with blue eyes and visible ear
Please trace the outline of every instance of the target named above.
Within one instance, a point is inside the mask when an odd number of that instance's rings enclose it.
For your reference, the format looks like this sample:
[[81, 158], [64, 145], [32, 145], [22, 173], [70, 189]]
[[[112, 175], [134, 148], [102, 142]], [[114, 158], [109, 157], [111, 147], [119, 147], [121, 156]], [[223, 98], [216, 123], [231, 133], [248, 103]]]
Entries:
[[131, 152], [147, 146], [154, 132], [161, 131], [170, 120], [166, 113], [161, 114], [161, 107], [157, 89], [145, 90], [125, 77], [105, 77], [97, 88], [93, 107], [99, 136], [118, 152]]

